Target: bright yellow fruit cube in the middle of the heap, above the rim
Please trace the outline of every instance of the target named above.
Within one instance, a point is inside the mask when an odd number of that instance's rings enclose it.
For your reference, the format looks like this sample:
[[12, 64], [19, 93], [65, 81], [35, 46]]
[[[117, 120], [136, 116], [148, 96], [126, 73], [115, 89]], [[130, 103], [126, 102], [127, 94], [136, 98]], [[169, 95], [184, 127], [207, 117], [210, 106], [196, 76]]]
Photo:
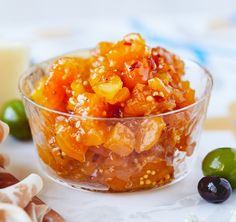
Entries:
[[119, 76], [108, 77], [106, 82], [98, 83], [92, 86], [95, 93], [107, 100], [112, 100], [115, 95], [122, 89], [123, 82]]

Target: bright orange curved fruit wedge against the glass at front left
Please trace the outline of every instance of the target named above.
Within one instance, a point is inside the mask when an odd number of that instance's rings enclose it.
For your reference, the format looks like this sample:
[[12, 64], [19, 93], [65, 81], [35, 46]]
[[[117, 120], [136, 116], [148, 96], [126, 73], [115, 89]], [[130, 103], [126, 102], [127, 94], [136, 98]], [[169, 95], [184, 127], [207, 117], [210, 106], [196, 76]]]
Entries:
[[61, 151], [71, 158], [84, 162], [88, 147], [79, 142], [79, 130], [69, 125], [68, 121], [64, 118], [56, 122], [55, 130], [56, 143]]

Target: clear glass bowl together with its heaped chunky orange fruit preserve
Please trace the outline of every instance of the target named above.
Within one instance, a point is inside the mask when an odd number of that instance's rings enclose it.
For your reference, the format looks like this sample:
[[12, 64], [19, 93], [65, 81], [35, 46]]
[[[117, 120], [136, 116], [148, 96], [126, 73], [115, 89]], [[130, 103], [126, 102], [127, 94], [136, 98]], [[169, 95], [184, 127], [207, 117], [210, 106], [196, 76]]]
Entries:
[[20, 89], [44, 170], [109, 192], [183, 178], [211, 90], [209, 74], [188, 66], [133, 33], [33, 67]]

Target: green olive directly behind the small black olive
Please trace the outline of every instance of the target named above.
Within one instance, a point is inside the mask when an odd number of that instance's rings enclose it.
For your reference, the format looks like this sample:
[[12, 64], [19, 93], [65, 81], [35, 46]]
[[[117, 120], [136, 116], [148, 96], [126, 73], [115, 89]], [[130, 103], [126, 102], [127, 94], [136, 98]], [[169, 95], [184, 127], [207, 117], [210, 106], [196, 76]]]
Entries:
[[236, 149], [222, 147], [209, 152], [202, 162], [205, 176], [220, 176], [236, 188]]

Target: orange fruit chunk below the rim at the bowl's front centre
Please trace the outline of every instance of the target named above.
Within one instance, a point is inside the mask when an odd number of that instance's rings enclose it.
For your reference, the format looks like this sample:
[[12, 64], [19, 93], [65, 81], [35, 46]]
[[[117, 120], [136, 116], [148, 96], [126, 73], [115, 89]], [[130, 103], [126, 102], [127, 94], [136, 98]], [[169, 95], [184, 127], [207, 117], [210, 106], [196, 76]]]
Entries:
[[112, 128], [104, 147], [120, 156], [128, 156], [135, 147], [134, 133], [124, 124], [117, 123]]

